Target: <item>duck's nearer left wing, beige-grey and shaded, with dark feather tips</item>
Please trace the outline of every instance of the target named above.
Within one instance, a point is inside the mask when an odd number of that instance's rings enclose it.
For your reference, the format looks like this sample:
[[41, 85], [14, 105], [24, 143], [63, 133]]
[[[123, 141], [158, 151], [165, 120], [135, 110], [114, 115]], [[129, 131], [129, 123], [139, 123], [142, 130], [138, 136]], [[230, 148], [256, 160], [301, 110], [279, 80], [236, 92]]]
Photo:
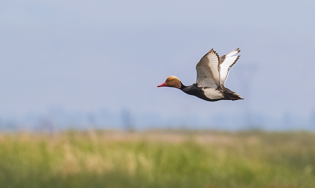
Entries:
[[196, 65], [199, 87], [222, 88], [220, 79], [220, 57], [213, 49], [204, 55]]

